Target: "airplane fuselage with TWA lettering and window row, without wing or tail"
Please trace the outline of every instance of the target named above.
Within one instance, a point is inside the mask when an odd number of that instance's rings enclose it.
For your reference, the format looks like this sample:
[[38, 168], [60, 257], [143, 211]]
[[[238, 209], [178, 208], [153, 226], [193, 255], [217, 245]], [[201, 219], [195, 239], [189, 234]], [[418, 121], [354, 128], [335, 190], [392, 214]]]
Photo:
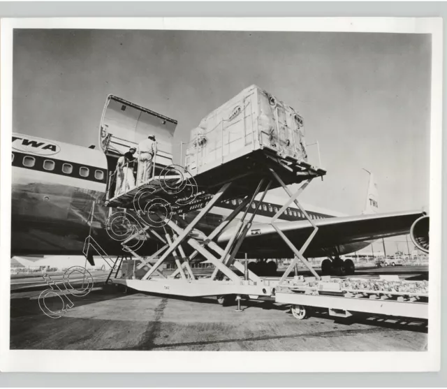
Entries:
[[[80, 255], [88, 235], [109, 255], [122, 255], [122, 246], [112, 240], [106, 230], [108, 216], [115, 210], [105, 207], [104, 198], [108, 166], [102, 152], [61, 142], [53, 142], [28, 135], [13, 136], [12, 234], [11, 254], [66, 254]], [[228, 200], [214, 207], [198, 229], [209, 233], [238, 205], [240, 200]], [[281, 205], [266, 196], [255, 221], [268, 221]], [[315, 207], [306, 207], [312, 219], [340, 216]], [[186, 214], [189, 221], [198, 211]], [[282, 221], [305, 220], [296, 207], [289, 207]], [[327, 247], [308, 256], [337, 256], [357, 251], [370, 244], [355, 242]], [[148, 240], [140, 255], [152, 254], [159, 247]], [[262, 258], [263, 252], [254, 251], [250, 258]], [[250, 253], [249, 253], [250, 255]], [[290, 258], [291, 251], [275, 248], [274, 257], [265, 251], [264, 258]]]

